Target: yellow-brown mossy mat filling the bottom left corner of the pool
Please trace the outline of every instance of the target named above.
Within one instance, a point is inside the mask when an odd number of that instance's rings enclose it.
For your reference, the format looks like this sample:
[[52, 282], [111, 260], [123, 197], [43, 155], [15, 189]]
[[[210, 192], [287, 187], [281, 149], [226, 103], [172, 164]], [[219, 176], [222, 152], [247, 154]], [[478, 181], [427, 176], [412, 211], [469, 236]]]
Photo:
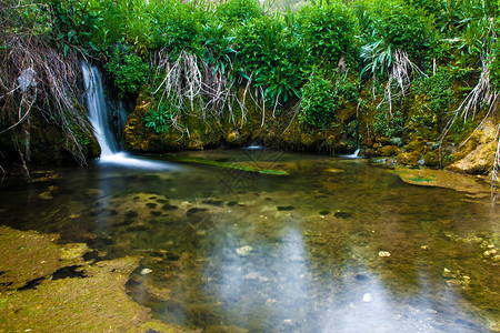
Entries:
[[[0, 332], [191, 332], [150, 321], [150, 310], [128, 296], [139, 258], [84, 262], [86, 244], [59, 245], [57, 239], [0, 226]], [[66, 266], [83, 278], [51, 280]]]

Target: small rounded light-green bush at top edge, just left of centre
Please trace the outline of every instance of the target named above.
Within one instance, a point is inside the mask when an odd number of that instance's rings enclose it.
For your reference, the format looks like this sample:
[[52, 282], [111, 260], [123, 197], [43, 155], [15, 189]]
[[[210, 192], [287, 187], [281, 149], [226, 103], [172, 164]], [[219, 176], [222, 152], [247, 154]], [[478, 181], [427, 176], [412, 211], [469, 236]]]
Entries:
[[229, 0], [217, 8], [216, 16], [224, 22], [236, 24], [260, 18], [262, 9], [257, 0]]

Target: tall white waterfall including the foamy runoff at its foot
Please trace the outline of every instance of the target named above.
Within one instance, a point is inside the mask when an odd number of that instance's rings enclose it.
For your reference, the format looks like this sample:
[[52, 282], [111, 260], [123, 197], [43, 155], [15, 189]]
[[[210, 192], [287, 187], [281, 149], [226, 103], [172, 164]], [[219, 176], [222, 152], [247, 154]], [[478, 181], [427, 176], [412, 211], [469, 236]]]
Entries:
[[101, 147], [99, 163], [116, 164], [138, 169], [172, 169], [168, 163], [148, 161], [132, 158], [126, 152], [120, 152], [117, 140], [109, 127], [108, 107], [104, 101], [104, 89], [99, 69], [84, 61], [81, 63], [83, 83], [87, 92], [87, 112], [92, 124], [94, 135]]

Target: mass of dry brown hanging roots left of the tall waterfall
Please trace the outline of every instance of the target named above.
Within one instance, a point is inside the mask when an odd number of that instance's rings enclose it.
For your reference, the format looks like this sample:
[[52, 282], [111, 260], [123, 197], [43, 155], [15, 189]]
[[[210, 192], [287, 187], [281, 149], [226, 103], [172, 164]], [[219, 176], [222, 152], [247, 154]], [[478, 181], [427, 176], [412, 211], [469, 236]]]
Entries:
[[[79, 110], [78, 77], [80, 65], [76, 49], [70, 48], [66, 56], [49, 43], [44, 32], [40, 32], [38, 16], [50, 21], [50, 8], [38, 2], [4, 1], [0, 9], [0, 133], [19, 132], [26, 138], [18, 149], [23, 150], [21, 160], [30, 159], [30, 118], [39, 112], [42, 119], [56, 123], [66, 135], [68, 149], [74, 159], [86, 163], [82, 145], [74, 134], [79, 130], [90, 135], [90, 124]], [[19, 16], [26, 8], [36, 7], [37, 19], [32, 27], [21, 24]], [[9, 13], [9, 14], [8, 14]], [[43, 21], [42, 20], [42, 21]], [[11, 134], [13, 135], [13, 134]]]

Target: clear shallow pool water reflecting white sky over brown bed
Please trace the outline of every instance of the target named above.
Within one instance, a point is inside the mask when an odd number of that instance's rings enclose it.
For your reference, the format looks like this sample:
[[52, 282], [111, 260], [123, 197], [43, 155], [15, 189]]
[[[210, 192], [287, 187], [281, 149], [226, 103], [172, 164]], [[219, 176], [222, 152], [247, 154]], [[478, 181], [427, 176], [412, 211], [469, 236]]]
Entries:
[[364, 160], [191, 155], [290, 175], [170, 162], [59, 170], [44, 182], [8, 179], [2, 223], [87, 242], [97, 259], [142, 256], [130, 295], [207, 331], [498, 327], [498, 261], [484, 251], [499, 246], [500, 212], [489, 198], [408, 185]]

